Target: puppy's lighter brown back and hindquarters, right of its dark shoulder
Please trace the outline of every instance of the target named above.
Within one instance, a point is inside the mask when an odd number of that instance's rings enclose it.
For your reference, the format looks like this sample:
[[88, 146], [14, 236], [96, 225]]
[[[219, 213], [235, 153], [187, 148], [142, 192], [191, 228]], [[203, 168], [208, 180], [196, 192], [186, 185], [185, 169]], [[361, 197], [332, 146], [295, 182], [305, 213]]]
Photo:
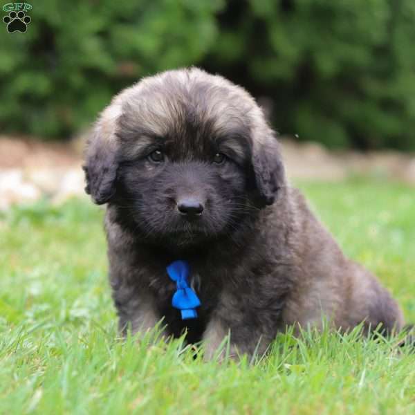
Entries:
[[325, 315], [344, 330], [362, 321], [371, 329], [382, 323], [388, 332], [400, 330], [403, 313], [388, 291], [369, 270], [344, 257], [298, 190], [290, 196], [298, 218], [295, 246], [302, 280], [288, 302], [288, 324], [320, 326]]

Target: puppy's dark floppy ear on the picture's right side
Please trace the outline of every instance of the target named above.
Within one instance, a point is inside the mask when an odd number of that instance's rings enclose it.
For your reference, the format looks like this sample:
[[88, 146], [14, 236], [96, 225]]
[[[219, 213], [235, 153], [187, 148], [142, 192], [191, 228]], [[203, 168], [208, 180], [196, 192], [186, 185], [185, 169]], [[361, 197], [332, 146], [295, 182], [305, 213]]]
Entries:
[[261, 142], [254, 142], [252, 167], [257, 205], [272, 205], [279, 189], [286, 184], [282, 156], [272, 132]]

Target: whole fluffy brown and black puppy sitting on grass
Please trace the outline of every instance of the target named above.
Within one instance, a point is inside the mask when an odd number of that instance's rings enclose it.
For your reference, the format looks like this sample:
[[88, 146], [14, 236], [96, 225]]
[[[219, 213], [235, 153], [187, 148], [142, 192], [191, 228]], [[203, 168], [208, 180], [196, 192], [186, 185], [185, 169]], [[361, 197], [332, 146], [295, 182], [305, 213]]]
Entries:
[[[403, 326], [400, 308], [345, 258], [286, 182], [275, 133], [241, 87], [198, 68], [142, 79], [105, 109], [86, 148], [86, 192], [107, 203], [120, 330], [164, 317], [206, 355], [265, 351], [289, 324]], [[166, 267], [190, 266], [199, 316], [181, 320]], [[258, 347], [259, 346], [259, 347]]]

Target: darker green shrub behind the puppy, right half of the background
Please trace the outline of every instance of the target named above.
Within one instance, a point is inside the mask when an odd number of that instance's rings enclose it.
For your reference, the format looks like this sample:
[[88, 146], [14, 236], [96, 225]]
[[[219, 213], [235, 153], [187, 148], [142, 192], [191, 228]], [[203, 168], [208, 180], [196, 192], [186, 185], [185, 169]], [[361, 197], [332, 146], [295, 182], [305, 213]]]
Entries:
[[329, 147], [415, 149], [413, 0], [231, 4], [208, 68], [272, 98], [279, 131]]

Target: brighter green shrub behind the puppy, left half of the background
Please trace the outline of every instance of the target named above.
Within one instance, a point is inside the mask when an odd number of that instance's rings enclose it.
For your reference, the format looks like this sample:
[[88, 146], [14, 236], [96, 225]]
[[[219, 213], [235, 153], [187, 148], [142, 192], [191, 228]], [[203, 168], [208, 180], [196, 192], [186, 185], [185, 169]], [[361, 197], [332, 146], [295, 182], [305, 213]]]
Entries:
[[33, 3], [26, 33], [1, 30], [1, 129], [70, 136], [139, 77], [199, 62], [218, 37], [220, 7], [219, 0]]

